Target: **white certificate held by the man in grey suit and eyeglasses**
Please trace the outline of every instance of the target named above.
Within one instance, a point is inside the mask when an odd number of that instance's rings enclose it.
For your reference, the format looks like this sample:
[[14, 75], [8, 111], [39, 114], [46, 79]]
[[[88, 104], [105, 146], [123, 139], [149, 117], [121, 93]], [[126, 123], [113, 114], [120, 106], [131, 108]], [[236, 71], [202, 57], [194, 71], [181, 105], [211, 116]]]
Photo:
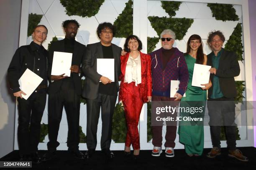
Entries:
[[115, 81], [115, 60], [113, 58], [97, 58], [97, 72]]

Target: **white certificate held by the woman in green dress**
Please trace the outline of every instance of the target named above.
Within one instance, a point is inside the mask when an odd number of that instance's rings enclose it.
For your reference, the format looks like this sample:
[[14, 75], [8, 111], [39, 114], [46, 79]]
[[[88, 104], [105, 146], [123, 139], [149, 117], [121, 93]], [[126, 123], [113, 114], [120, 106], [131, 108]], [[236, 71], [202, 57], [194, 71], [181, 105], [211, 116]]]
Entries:
[[209, 83], [210, 68], [211, 66], [209, 65], [195, 64], [192, 77], [192, 86], [205, 87], [201, 84]]

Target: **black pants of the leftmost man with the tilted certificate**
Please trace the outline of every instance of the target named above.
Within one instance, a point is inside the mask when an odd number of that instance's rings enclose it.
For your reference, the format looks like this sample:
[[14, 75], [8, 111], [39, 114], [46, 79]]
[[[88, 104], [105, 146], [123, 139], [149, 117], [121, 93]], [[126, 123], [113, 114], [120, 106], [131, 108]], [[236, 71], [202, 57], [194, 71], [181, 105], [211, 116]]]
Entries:
[[27, 100], [18, 97], [18, 145], [20, 155], [34, 153], [38, 150], [40, 124], [46, 104], [46, 89], [36, 91]]

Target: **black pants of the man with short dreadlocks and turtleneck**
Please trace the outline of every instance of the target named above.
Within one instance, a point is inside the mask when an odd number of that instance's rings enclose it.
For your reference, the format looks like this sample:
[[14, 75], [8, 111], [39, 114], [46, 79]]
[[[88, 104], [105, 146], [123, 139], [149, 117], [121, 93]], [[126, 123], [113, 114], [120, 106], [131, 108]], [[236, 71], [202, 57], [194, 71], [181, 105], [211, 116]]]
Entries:
[[49, 142], [47, 148], [49, 151], [55, 151], [59, 146], [57, 141], [59, 124], [61, 122], [63, 106], [67, 113], [68, 123], [68, 150], [78, 150], [79, 144], [79, 114], [80, 114], [80, 95], [77, 95], [74, 89], [72, 79], [63, 81], [61, 89], [53, 94], [49, 94]]

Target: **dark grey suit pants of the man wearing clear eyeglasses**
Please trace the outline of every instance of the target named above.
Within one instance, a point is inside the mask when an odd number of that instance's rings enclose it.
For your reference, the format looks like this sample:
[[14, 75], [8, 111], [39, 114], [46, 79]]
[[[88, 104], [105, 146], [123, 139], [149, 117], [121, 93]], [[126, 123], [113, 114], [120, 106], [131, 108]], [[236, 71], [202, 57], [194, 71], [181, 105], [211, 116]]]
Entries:
[[87, 105], [87, 148], [95, 149], [97, 145], [97, 126], [100, 117], [102, 131], [100, 147], [109, 149], [112, 137], [112, 117], [115, 109], [117, 96], [98, 94], [95, 100], [86, 99]]

